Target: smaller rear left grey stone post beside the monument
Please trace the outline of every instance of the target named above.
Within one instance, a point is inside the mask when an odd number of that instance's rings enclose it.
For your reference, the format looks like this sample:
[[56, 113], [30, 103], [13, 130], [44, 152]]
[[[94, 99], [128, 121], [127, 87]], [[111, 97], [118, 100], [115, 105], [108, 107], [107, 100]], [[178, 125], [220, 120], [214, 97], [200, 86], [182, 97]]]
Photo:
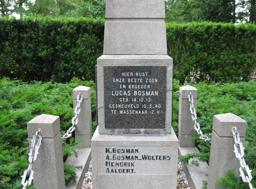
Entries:
[[82, 139], [79, 143], [81, 148], [91, 147], [92, 138], [92, 112], [91, 112], [91, 90], [90, 87], [79, 86], [73, 90], [73, 106], [76, 107], [77, 96], [81, 93], [81, 111], [78, 114], [78, 123], [75, 129], [75, 139]]

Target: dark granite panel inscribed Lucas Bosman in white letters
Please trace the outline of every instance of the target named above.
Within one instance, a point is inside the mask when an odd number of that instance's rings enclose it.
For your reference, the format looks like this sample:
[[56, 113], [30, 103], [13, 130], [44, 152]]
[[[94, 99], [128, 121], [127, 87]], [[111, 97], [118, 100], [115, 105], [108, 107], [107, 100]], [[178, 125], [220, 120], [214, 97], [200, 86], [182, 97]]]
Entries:
[[106, 129], [164, 129], [166, 66], [104, 66]]

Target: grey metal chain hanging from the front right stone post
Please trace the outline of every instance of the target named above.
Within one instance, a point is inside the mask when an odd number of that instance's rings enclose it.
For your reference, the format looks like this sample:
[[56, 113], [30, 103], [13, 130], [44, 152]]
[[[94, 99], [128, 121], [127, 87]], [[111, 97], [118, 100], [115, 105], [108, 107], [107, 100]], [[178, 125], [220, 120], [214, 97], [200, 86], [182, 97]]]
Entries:
[[[251, 170], [249, 169], [244, 160], [245, 148], [243, 147], [243, 143], [240, 141], [240, 136], [236, 127], [232, 127], [232, 133], [234, 138], [234, 153], [236, 154], [236, 157], [239, 159], [240, 162], [240, 176], [242, 177], [244, 182], [247, 182], [249, 184], [250, 189], [253, 189], [251, 184]], [[245, 176], [245, 172], [247, 173], [247, 176]]]

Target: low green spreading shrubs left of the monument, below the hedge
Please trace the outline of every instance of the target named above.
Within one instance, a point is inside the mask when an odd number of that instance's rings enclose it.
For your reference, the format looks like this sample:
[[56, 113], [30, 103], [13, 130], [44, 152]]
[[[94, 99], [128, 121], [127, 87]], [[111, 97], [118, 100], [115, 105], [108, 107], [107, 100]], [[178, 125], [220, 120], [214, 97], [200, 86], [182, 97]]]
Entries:
[[[20, 188], [20, 179], [28, 168], [27, 123], [40, 114], [58, 115], [62, 134], [71, 127], [73, 117], [72, 90], [91, 87], [92, 111], [95, 115], [95, 84], [73, 79], [70, 83], [42, 83], [0, 80], [0, 188]], [[74, 152], [76, 141], [62, 143], [63, 160]], [[79, 146], [79, 144], [78, 144]], [[65, 166], [65, 179], [75, 178], [74, 168]]]

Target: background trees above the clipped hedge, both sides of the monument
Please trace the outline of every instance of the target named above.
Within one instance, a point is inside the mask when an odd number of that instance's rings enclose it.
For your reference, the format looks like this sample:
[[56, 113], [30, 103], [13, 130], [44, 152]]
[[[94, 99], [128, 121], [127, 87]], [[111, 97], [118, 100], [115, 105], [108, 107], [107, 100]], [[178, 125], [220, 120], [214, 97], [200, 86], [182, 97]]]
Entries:
[[[104, 18], [105, 0], [1, 0], [0, 18], [20, 15]], [[166, 21], [255, 23], [255, 0], [165, 0]]]

